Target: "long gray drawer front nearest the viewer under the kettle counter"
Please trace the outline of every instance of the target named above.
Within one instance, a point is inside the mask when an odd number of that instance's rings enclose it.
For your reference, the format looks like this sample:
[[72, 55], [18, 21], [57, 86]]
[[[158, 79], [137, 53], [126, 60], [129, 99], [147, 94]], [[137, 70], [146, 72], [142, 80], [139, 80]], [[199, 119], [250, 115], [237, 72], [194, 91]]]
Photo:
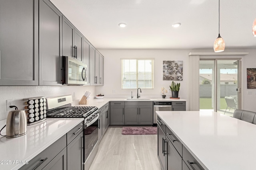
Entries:
[[42, 170], [53, 158], [66, 147], [66, 134], [54, 142], [32, 160], [22, 166], [19, 170]]

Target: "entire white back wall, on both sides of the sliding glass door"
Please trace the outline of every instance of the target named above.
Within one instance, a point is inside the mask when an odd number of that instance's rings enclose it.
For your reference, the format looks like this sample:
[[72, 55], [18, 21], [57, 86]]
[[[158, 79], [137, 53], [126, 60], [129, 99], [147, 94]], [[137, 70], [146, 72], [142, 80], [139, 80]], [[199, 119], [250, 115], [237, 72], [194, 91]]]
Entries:
[[[189, 110], [189, 52], [213, 52], [213, 49], [188, 49], [188, 50], [116, 50], [100, 49], [104, 55], [104, 86], [97, 86], [96, 93], [105, 94], [107, 97], [130, 98], [131, 91], [136, 96], [136, 90], [121, 89], [121, 58], [154, 58], [154, 89], [142, 89], [141, 97], [161, 97], [161, 87], [169, 88], [171, 81], [162, 80], [162, 62], [164, 60], [183, 61], [183, 81], [181, 83], [180, 97], [187, 101]], [[255, 49], [225, 49], [225, 52], [248, 52], [242, 57], [242, 109], [256, 111], [256, 89], [247, 89], [246, 68], [256, 68]], [[233, 56], [225, 56], [231, 58]], [[115, 93], [112, 92], [115, 90]], [[247, 94], [251, 91], [252, 94]], [[167, 96], [168, 97], [168, 96]]]

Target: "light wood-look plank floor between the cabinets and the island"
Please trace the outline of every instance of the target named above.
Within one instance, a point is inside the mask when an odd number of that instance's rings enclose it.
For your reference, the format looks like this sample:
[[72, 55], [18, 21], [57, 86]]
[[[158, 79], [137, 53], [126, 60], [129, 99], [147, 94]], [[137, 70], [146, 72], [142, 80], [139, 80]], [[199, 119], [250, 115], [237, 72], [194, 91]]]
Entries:
[[161, 170], [157, 135], [122, 135], [108, 127], [89, 170]]

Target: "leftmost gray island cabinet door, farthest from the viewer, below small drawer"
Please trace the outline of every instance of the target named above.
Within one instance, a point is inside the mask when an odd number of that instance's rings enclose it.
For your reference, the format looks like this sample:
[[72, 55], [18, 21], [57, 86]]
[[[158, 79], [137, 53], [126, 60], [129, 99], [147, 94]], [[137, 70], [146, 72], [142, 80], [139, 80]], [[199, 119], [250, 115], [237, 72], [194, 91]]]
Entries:
[[162, 131], [162, 129], [157, 125], [157, 157], [160, 162], [160, 165], [162, 167], [162, 170], [166, 170], [165, 167], [165, 155], [164, 155], [164, 140], [165, 140], [165, 134]]

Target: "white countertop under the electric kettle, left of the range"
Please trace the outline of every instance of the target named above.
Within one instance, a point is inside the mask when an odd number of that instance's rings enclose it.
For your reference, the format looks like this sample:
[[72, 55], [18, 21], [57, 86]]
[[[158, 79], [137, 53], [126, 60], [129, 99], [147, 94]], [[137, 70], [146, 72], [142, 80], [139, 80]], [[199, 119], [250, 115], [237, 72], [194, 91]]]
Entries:
[[[13, 164], [16, 160], [29, 161], [60, 139], [84, 118], [47, 118], [46, 121], [27, 126], [27, 134], [16, 138], [0, 136], [0, 170], [17, 170], [24, 164]], [[6, 120], [0, 121], [0, 128]], [[5, 129], [2, 134], [5, 135]], [[10, 161], [11, 164], [6, 164]]]

